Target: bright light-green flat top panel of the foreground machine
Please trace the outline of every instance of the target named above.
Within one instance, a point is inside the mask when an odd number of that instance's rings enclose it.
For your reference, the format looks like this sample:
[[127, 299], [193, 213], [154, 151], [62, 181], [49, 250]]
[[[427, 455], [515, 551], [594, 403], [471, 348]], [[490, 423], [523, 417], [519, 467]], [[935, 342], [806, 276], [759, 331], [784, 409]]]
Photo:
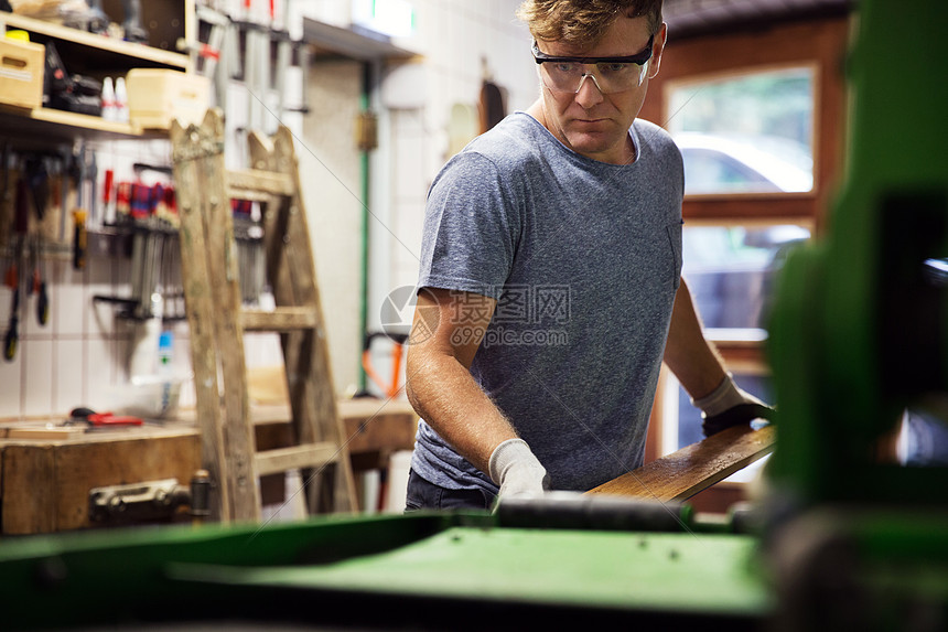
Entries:
[[750, 536], [452, 527], [327, 566], [175, 565], [181, 579], [763, 617]]

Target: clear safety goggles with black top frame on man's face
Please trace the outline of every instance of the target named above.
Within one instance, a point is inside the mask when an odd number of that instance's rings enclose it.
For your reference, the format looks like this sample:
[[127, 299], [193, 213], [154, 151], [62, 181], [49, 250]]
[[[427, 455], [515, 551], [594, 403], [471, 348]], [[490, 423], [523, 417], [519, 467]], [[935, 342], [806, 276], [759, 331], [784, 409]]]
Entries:
[[[591, 77], [599, 90], [608, 95], [642, 85], [654, 42], [655, 35], [651, 35], [640, 53], [625, 57], [557, 57], [540, 52], [536, 40], [532, 52], [543, 85], [552, 92], [575, 94], [585, 78]], [[586, 72], [588, 66], [595, 66], [595, 71]]]

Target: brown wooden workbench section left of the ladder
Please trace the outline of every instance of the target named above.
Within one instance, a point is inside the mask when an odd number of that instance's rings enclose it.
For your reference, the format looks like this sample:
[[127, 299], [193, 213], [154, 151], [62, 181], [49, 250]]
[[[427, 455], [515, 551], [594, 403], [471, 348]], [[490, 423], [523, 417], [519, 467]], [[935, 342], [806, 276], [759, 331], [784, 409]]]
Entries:
[[[42, 430], [35, 428], [34, 436]], [[201, 468], [201, 437], [192, 427], [116, 428], [51, 439], [10, 433], [0, 430], [8, 436], [0, 439], [4, 535], [100, 526], [89, 519], [89, 490], [162, 479], [186, 485]]]

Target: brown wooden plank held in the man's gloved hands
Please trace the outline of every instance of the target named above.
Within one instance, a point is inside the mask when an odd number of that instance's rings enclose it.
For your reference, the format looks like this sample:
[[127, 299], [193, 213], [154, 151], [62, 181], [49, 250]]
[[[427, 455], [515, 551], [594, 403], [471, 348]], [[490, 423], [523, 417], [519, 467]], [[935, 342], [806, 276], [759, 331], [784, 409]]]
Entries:
[[773, 426], [729, 428], [586, 493], [683, 501], [771, 453], [775, 441]]

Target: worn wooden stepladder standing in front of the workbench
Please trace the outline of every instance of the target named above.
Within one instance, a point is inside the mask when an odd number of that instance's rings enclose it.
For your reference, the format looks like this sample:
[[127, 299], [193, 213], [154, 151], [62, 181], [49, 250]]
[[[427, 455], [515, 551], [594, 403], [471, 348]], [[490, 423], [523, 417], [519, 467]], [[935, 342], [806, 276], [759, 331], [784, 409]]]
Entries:
[[[225, 168], [224, 135], [216, 108], [200, 127], [174, 121], [171, 130], [197, 419], [203, 460], [218, 484], [215, 516], [259, 522], [259, 476], [294, 469], [310, 513], [354, 512], [292, 135], [286, 127], [272, 138], [249, 135], [251, 169], [239, 171]], [[241, 307], [231, 199], [263, 211], [274, 311]], [[297, 442], [265, 452], [255, 447], [243, 344], [244, 332], [259, 331], [280, 333]]]

